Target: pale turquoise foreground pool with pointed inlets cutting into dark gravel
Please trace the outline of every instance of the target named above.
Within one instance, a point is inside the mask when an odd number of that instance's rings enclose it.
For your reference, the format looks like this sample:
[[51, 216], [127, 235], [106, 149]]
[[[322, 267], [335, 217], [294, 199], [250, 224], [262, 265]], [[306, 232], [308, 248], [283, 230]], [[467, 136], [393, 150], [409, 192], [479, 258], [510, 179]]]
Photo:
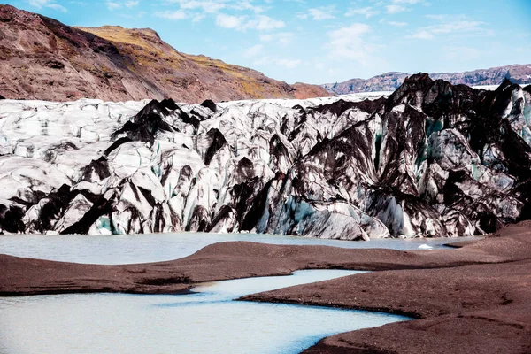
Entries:
[[0, 298], [0, 352], [298, 353], [321, 338], [406, 320], [378, 313], [234, 301], [357, 272], [219, 281], [186, 296], [83, 294]]

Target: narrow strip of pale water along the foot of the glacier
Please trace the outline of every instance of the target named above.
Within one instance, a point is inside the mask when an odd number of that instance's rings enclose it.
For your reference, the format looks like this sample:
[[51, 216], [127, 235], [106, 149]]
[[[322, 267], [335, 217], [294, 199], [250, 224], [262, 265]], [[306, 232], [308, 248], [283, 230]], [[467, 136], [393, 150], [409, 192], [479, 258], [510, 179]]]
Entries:
[[427, 244], [434, 249], [465, 238], [382, 239], [369, 242], [325, 240], [305, 237], [256, 234], [159, 234], [159, 235], [0, 235], [0, 253], [64, 262], [103, 265], [158, 262], [183, 258], [216, 242], [250, 241], [271, 244], [322, 245], [341, 248], [384, 248], [418, 250]]

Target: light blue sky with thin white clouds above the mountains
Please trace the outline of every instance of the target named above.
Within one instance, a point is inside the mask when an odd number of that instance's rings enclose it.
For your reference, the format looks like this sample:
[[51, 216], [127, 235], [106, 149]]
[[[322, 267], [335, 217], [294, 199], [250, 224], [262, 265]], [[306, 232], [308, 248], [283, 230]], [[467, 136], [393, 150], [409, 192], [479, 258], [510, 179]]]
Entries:
[[531, 64], [531, 0], [18, 0], [70, 26], [150, 27], [277, 80]]

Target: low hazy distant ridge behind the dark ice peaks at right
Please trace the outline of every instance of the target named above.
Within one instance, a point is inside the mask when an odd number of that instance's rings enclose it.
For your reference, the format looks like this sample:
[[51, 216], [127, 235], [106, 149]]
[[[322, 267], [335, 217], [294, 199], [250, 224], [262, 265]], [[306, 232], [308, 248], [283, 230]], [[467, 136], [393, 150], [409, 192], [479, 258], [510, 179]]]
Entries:
[[[327, 83], [321, 85], [328, 92], [344, 95], [357, 92], [394, 91], [411, 76], [408, 73], [384, 73], [368, 80], [352, 79], [344, 82]], [[434, 80], [443, 79], [452, 85], [465, 84], [468, 86], [499, 85], [505, 79], [519, 85], [531, 83], [531, 64], [509, 65], [490, 69], [474, 70], [466, 73], [431, 73]]]

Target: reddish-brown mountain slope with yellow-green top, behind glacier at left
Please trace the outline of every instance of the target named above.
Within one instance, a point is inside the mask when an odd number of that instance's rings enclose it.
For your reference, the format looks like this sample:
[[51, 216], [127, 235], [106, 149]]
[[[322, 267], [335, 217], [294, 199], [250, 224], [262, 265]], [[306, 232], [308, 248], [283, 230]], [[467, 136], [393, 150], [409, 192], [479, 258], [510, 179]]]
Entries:
[[[328, 95], [319, 86], [304, 88]], [[297, 89], [255, 70], [181, 53], [149, 28], [69, 27], [0, 5], [0, 94], [50, 101], [172, 97], [199, 103], [294, 98]]]

